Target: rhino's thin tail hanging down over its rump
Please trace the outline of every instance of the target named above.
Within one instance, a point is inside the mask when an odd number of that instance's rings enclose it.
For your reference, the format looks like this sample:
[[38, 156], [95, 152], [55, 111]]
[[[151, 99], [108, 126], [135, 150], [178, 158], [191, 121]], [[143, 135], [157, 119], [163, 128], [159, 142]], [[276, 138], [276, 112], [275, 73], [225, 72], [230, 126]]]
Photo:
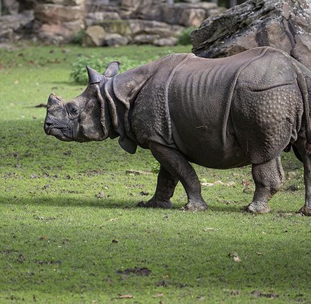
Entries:
[[[311, 103], [311, 88], [308, 87], [306, 78], [309, 78], [303, 73], [297, 73], [297, 82], [303, 97], [303, 112], [305, 114], [305, 149], [311, 154], [311, 123], [310, 123], [310, 103]], [[311, 84], [311, 82], [310, 82]], [[310, 89], [310, 90], [309, 90]]]

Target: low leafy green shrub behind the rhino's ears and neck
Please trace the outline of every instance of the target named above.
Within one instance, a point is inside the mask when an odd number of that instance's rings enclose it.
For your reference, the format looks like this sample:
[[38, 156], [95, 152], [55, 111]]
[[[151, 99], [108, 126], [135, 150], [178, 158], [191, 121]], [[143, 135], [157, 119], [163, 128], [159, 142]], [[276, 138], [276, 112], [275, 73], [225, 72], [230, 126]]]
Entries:
[[[120, 61], [120, 72], [125, 72], [130, 68], [136, 68], [137, 66], [141, 66], [145, 64], [146, 61], [139, 61], [135, 59], [129, 59], [126, 56], [114, 58], [114, 57], [104, 57], [101, 59], [98, 56], [82, 56], [77, 59], [72, 65], [71, 78], [77, 84], [87, 84], [88, 83], [88, 74], [86, 73], [86, 66], [90, 66], [94, 70], [97, 70], [99, 73], [103, 73], [106, 70], [106, 67], [111, 61]], [[153, 60], [153, 59], [151, 59]]]

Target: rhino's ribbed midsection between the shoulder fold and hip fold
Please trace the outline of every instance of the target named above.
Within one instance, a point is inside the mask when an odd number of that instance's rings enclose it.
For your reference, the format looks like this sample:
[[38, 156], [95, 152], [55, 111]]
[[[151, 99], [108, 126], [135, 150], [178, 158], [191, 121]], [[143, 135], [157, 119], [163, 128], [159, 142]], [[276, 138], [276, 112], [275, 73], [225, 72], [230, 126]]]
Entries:
[[172, 135], [189, 161], [215, 169], [249, 164], [230, 115], [234, 83], [243, 64], [194, 57], [176, 71], [168, 92]]

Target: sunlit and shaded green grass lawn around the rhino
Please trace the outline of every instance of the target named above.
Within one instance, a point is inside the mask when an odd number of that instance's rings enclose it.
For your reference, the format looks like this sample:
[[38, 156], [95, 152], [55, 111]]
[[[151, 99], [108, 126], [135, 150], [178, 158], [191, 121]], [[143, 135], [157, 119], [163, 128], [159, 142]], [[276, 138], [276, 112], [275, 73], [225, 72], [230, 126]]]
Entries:
[[[149, 151], [129, 155], [116, 140], [60, 142], [43, 131], [46, 110], [32, 107], [51, 91], [69, 99], [84, 89], [69, 76], [79, 55], [147, 60], [189, 51], [0, 50], [0, 303], [310, 303], [311, 222], [296, 213], [303, 171], [292, 153], [283, 155], [287, 179], [270, 214], [241, 210], [252, 199], [243, 180], [254, 189], [249, 167], [195, 166], [201, 180], [235, 183], [202, 187], [209, 211], [181, 211], [180, 185], [173, 209], [140, 209], [156, 175], [126, 170], [150, 171]], [[134, 267], [151, 274], [117, 272]]]

